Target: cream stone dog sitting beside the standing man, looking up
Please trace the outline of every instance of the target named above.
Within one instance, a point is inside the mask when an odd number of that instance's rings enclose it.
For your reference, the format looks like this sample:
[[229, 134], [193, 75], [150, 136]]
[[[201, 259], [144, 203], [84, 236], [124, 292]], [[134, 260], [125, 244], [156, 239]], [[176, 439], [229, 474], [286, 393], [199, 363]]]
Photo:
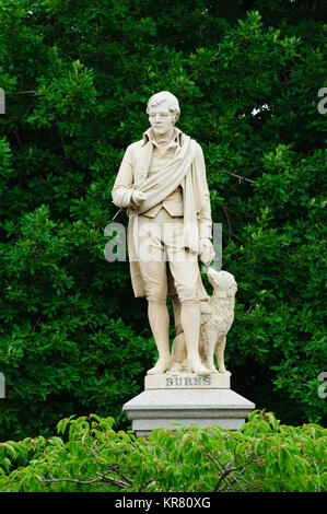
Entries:
[[[234, 320], [234, 303], [237, 284], [233, 274], [227, 271], [207, 271], [213, 293], [207, 302], [201, 302], [201, 325], [199, 353], [202, 364], [211, 373], [231, 374], [224, 364], [226, 335]], [[184, 332], [177, 334], [171, 352], [170, 372], [189, 372]], [[217, 357], [219, 370], [215, 369], [213, 355]]]

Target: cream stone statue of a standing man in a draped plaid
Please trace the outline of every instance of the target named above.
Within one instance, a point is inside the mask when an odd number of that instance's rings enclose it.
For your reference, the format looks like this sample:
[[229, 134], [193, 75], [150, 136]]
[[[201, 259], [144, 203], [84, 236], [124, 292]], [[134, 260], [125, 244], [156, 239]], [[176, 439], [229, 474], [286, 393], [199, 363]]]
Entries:
[[189, 370], [209, 374], [199, 357], [200, 303], [208, 300], [199, 259], [209, 265], [214, 257], [203, 154], [175, 127], [180, 110], [173, 94], [154, 94], [147, 114], [150, 128], [127, 148], [112, 195], [129, 217], [132, 288], [135, 296], [147, 296], [159, 351], [148, 374], [165, 373], [171, 365], [167, 294], [176, 329], [184, 331]]

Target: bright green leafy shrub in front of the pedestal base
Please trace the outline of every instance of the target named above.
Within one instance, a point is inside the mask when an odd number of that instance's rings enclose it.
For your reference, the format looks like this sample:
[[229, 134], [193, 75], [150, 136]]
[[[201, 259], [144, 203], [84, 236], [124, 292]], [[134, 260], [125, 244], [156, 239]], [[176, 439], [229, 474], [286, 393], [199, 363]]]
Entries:
[[[96, 414], [62, 419], [61, 439], [0, 445], [1, 491], [326, 491], [327, 430], [254, 411], [238, 431], [116, 432]], [[325, 466], [325, 467], [324, 467]]]

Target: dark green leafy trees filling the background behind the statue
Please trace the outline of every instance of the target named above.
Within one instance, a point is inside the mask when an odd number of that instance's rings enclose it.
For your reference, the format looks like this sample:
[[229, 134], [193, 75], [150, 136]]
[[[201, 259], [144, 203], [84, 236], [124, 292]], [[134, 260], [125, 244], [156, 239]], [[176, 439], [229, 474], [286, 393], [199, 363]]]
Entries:
[[104, 229], [161, 90], [203, 148], [238, 283], [232, 387], [283, 422], [322, 422], [324, 15], [308, 0], [0, 0], [0, 439], [90, 411], [127, 427], [156, 355]]

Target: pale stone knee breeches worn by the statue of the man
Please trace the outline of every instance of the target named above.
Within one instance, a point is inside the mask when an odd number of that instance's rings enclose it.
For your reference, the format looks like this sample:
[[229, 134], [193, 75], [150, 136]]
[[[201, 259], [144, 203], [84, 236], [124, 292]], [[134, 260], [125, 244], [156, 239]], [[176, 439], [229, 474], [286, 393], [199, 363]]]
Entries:
[[168, 269], [180, 302], [197, 301], [198, 256], [184, 248], [184, 219], [161, 209], [155, 218], [138, 217], [139, 266], [151, 302], [166, 302]]

